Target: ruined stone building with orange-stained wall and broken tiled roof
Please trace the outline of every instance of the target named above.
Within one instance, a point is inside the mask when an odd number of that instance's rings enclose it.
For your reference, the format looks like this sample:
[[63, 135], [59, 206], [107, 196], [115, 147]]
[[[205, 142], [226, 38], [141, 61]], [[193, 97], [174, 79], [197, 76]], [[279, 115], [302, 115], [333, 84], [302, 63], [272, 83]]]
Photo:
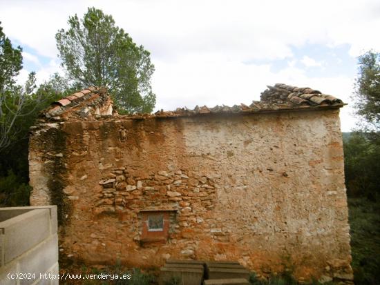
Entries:
[[30, 204], [58, 205], [63, 254], [88, 264], [237, 260], [350, 283], [343, 105], [276, 84], [249, 106], [121, 116], [90, 87], [32, 127]]

